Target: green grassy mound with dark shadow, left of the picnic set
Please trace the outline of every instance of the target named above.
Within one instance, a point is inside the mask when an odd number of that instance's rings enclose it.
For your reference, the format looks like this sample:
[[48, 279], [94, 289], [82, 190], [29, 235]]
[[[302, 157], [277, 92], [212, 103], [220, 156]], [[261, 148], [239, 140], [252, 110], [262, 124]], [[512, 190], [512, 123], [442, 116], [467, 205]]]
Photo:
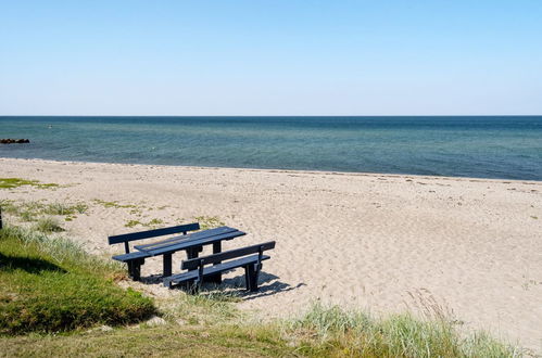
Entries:
[[121, 272], [68, 240], [0, 230], [0, 333], [121, 325], [155, 314], [150, 298], [114, 283]]

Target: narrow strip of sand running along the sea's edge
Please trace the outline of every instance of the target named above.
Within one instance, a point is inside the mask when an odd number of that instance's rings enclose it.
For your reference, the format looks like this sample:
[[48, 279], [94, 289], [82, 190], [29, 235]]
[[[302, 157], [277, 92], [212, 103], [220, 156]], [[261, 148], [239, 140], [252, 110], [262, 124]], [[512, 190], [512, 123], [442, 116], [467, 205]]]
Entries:
[[452, 181], [470, 181], [470, 182], [520, 182], [525, 184], [542, 184], [542, 180], [531, 179], [506, 179], [506, 178], [483, 178], [483, 177], [451, 177], [451, 176], [431, 176], [419, 174], [394, 174], [394, 172], [373, 172], [373, 171], [339, 171], [339, 170], [312, 170], [312, 169], [279, 169], [279, 168], [245, 168], [245, 167], [213, 167], [213, 166], [193, 166], [193, 165], [174, 165], [174, 164], [141, 164], [141, 163], [117, 163], [117, 162], [88, 162], [88, 161], [61, 161], [61, 159], [42, 159], [42, 158], [15, 158], [0, 156], [0, 161], [26, 161], [26, 162], [42, 162], [56, 164], [75, 164], [75, 165], [114, 165], [128, 167], [161, 167], [161, 168], [180, 168], [180, 169], [199, 169], [199, 170], [243, 170], [256, 172], [291, 172], [306, 175], [330, 175], [330, 176], [353, 176], [353, 177], [386, 177], [386, 178], [417, 178], [429, 180], [452, 180]]

